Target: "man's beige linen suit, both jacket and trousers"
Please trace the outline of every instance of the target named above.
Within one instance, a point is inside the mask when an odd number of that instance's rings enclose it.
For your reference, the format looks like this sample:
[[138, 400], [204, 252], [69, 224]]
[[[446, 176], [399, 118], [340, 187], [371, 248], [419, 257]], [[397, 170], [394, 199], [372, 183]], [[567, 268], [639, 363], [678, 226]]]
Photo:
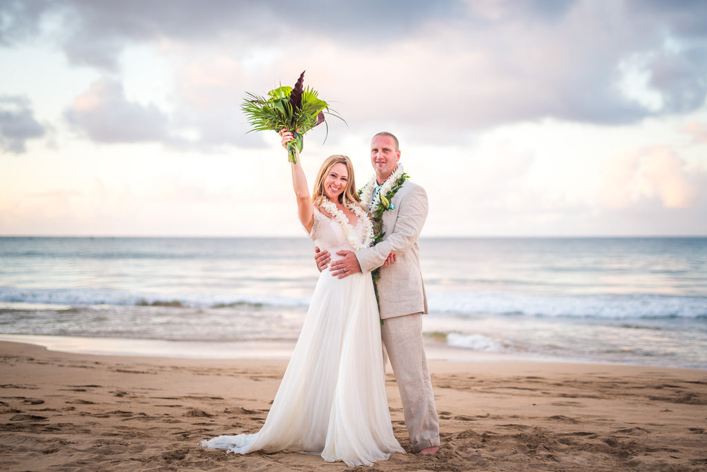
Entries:
[[[370, 202], [362, 202], [369, 205]], [[388, 254], [397, 262], [380, 269], [380, 326], [400, 391], [405, 425], [415, 452], [439, 446], [439, 420], [422, 338], [422, 314], [427, 298], [420, 271], [418, 240], [427, 218], [425, 190], [406, 180], [382, 215], [383, 240], [356, 251], [361, 271], [382, 266]]]

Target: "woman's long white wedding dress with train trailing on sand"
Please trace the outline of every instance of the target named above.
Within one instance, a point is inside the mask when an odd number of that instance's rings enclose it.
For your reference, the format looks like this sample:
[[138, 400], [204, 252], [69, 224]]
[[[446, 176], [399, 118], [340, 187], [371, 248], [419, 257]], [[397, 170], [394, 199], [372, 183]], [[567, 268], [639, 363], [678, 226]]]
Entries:
[[[351, 249], [341, 225], [314, 211], [310, 237]], [[363, 241], [361, 220], [353, 227]], [[350, 227], [351, 228], [351, 227]], [[201, 442], [228, 452], [292, 450], [325, 461], [370, 466], [404, 452], [393, 435], [385, 395], [380, 320], [370, 273], [339, 279], [322, 271], [300, 337], [262, 429]]]

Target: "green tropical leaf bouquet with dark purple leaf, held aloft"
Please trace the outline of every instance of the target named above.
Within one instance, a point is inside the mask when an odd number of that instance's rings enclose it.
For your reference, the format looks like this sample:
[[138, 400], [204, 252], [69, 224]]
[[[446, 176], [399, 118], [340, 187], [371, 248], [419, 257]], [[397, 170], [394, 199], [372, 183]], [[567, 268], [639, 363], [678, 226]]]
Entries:
[[[329, 110], [327, 102], [320, 100], [317, 90], [304, 88], [304, 78], [305, 71], [300, 74], [294, 87], [281, 85], [270, 90], [267, 98], [246, 92], [246, 98], [240, 106], [252, 126], [249, 133], [280, 131], [283, 128], [292, 132], [294, 139], [287, 143], [287, 158], [293, 164], [297, 163], [296, 151], [302, 151], [305, 133], [322, 122], [326, 124], [325, 113], [346, 123], [337, 112]], [[329, 136], [329, 125], [326, 126], [325, 141]]]

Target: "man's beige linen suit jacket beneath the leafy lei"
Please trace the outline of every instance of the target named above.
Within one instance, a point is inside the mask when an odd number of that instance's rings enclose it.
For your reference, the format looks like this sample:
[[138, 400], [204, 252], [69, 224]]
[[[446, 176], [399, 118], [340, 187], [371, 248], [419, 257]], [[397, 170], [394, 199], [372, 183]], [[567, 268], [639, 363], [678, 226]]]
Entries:
[[[362, 202], [368, 205], [370, 202]], [[383, 240], [373, 247], [356, 251], [363, 272], [382, 266], [391, 252], [397, 262], [380, 269], [378, 307], [381, 319], [427, 312], [427, 297], [420, 273], [417, 241], [427, 218], [425, 189], [409, 180], [392, 199], [392, 210], [382, 215]]]

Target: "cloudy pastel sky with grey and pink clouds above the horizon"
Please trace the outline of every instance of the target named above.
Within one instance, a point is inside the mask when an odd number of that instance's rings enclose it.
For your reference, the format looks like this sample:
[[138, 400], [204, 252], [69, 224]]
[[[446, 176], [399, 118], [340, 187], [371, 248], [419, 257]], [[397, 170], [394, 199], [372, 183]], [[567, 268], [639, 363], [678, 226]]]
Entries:
[[0, 235], [302, 235], [240, 102], [305, 85], [305, 137], [371, 175], [401, 141], [426, 236], [707, 235], [707, 2], [0, 2]]

